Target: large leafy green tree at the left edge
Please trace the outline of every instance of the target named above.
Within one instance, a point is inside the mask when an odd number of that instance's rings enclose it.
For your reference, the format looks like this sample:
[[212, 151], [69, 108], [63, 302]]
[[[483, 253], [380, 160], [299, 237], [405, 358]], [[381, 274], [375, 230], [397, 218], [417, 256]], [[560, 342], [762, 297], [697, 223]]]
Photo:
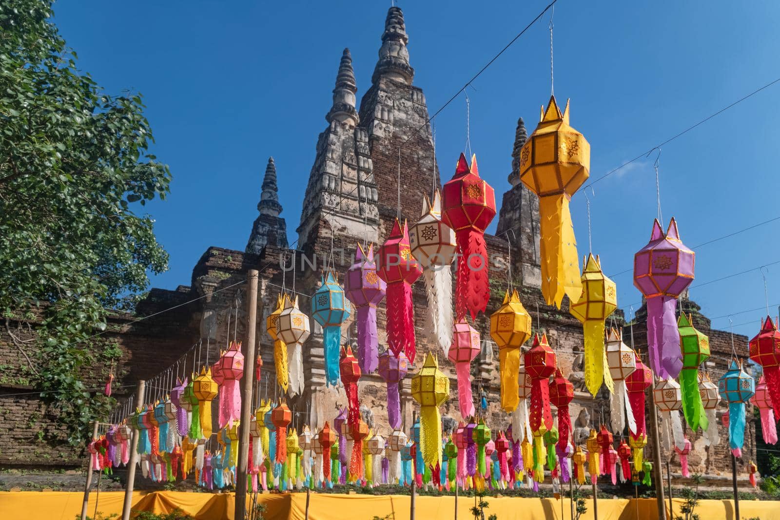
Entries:
[[170, 173], [148, 152], [140, 96], [106, 94], [77, 69], [52, 16], [48, 0], [0, 2], [0, 327], [41, 317], [34, 344], [12, 339], [77, 443], [108, 407], [80, 378], [97, 350], [87, 338], [167, 269], [137, 210], [165, 196]]

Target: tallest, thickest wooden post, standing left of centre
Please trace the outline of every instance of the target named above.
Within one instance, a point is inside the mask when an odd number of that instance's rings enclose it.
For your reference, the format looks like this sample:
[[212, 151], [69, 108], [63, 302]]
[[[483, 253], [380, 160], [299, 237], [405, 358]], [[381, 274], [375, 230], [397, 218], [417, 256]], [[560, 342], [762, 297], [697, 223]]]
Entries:
[[[241, 391], [241, 423], [239, 423], [239, 464], [236, 468], [236, 509], [233, 518], [244, 520], [246, 514], [246, 471], [249, 469], [249, 430], [252, 415], [252, 390], [254, 388], [254, 351], [257, 348], [257, 269], [246, 274], [246, 343], [243, 345], [244, 375]], [[284, 442], [284, 440], [282, 440]], [[307, 500], [308, 504], [308, 500]]]

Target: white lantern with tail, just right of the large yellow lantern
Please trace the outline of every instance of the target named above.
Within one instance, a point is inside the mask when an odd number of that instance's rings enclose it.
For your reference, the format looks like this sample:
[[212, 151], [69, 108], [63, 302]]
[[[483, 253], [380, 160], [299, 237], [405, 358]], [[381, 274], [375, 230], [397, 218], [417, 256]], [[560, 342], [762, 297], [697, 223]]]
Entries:
[[623, 433], [623, 430], [626, 430], [626, 419], [628, 419], [629, 431], [636, 433], [636, 421], [626, 398], [626, 377], [629, 377], [636, 370], [633, 350], [623, 343], [618, 331], [611, 328], [607, 334], [606, 352], [609, 374], [615, 385], [610, 401], [612, 432]]

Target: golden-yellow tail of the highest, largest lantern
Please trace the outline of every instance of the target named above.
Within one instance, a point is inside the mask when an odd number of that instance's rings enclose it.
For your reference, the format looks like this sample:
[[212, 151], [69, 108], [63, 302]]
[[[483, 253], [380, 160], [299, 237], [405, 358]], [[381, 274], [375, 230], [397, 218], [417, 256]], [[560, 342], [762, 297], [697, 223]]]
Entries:
[[541, 292], [544, 301], [560, 309], [563, 295], [580, 301], [582, 281], [569, 196], [539, 197]]

